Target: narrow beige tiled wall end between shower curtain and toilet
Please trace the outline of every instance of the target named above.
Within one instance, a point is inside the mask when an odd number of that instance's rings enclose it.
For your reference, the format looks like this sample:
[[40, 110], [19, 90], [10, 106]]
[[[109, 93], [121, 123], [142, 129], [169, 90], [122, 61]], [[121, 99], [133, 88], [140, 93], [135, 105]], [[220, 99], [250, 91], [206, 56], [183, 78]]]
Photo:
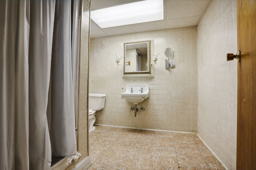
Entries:
[[68, 170], [72, 170], [88, 154], [88, 59], [89, 59], [89, 24], [90, 24], [90, 2], [83, 0], [81, 39], [80, 39], [80, 61], [79, 61], [79, 87], [78, 87], [78, 152], [82, 154], [78, 162], [74, 162]]

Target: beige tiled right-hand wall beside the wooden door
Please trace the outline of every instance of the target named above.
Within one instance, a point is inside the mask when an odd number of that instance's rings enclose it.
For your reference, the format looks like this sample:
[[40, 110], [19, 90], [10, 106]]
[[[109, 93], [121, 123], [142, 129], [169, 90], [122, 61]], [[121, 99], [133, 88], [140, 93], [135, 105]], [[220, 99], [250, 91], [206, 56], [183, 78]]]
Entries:
[[198, 24], [198, 134], [236, 169], [236, 0], [212, 0]]

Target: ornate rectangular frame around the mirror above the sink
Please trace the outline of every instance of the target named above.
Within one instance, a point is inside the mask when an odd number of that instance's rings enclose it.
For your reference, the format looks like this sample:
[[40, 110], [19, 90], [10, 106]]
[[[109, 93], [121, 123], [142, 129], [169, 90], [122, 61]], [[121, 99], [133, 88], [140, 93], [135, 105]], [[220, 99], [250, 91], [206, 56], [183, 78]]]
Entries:
[[[125, 71], [125, 64], [126, 64], [126, 45], [131, 44], [141, 44], [141, 43], [148, 43], [148, 70], [146, 71], [134, 71], [134, 72], [126, 72]], [[151, 69], [151, 49], [152, 49], [153, 42], [152, 40], [147, 41], [136, 41], [136, 42], [130, 42], [130, 43], [124, 43], [124, 71], [123, 71], [123, 77], [126, 76], [154, 76], [152, 74], [153, 69]]]

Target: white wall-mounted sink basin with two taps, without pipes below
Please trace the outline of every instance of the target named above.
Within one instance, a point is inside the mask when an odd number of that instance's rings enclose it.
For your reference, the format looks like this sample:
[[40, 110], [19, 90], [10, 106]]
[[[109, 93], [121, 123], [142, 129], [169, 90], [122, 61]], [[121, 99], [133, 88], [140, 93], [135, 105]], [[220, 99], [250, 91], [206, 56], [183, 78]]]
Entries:
[[127, 84], [126, 91], [121, 93], [121, 97], [128, 102], [138, 104], [148, 98], [149, 89], [147, 84]]

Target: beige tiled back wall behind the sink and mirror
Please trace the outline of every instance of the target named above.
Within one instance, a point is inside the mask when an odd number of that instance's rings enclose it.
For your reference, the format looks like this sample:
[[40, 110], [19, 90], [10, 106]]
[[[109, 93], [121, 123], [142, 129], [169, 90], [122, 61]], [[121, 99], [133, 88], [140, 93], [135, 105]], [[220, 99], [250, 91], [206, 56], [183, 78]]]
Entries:
[[[196, 27], [185, 27], [91, 39], [89, 92], [106, 94], [105, 108], [96, 112], [96, 124], [196, 132], [196, 34]], [[123, 43], [152, 39], [152, 52], [160, 53], [154, 77], [122, 78], [123, 67], [115, 59], [123, 55]], [[166, 47], [174, 51], [173, 69], [165, 70]], [[136, 117], [131, 103], [121, 98], [127, 84], [148, 84], [150, 88], [150, 96], [143, 102], [145, 111], [138, 111]]]

